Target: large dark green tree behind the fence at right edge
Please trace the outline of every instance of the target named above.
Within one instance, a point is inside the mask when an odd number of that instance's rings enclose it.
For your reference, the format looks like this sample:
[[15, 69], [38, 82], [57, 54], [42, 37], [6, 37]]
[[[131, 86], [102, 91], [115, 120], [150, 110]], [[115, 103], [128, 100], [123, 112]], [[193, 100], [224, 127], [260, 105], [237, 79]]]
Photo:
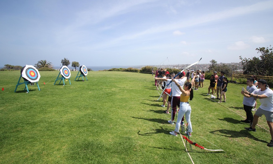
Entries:
[[259, 57], [253, 57], [252, 59], [242, 58], [241, 63], [243, 65], [243, 74], [254, 74], [260, 76], [272, 76], [273, 75], [273, 48], [257, 48], [257, 53], [261, 54]]

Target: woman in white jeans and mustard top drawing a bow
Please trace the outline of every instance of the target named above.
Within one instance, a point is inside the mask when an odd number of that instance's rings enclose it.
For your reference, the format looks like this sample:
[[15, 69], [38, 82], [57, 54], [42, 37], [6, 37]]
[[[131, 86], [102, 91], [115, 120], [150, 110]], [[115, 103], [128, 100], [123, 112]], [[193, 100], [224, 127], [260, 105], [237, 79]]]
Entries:
[[[184, 89], [175, 80], [172, 79], [172, 81], [174, 81], [175, 85], [177, 85], [179, 90], [182, 92], [182, 94], [180, 95], [180, 110], [178, 112], [176, 126], [175, 126], [174, 131], [170, 132], [170, 134], [173, 136], [177, 136], [177, 132], [179, 132], [180, 123], [181, 123], [182, 117], [184, 115], [186, 116], [186, 121], [188, 123], [188, 132], [185, 131], [185, 133], [188, 134], [189, 136], [191, 136], [191, 132], [192, 132], [192, 127], [191, 127], [191, 122], [190, 122], [191, 108], [190, 108], [190, 104], [189, 104], [188, 100], [189, 99], [192, 100], [192, 98], [193, 98], [193, 90], [191, 88], [191, 84], [193, 83], [195, 76], [196, 76], [196, 74], [194, 74], [194, 78], [192, 79], [191, 83], [188, 82], [188, 83], [184, 84]], [[184, 77], [182, 77], [182, 78], [184, 78]]]

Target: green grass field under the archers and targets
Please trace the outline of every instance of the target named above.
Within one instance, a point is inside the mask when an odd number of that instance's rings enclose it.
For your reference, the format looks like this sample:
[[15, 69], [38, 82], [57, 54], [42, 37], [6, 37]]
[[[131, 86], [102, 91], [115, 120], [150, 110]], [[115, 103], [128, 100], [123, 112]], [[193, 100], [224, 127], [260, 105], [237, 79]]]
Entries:
[[[14, 93], [20, 71], [0, 71], [0, 163], [192, 163], [180, 136], [169, 134], [151, 74], [88, 72], [83, 82], [77, 73], [63, 86], [53, 85], [59, 72], [40, 72], [41, 91], [35, 84], [27, 94], [24, 85]], [[265, 117], [257, 132], [239, 121], [246, 86], [228, 84], [227, 102], [217, 103], [208, 85], [190, 101], [191, 140], [225, 152], [193, 146], [194, 163], [273, 163]]]

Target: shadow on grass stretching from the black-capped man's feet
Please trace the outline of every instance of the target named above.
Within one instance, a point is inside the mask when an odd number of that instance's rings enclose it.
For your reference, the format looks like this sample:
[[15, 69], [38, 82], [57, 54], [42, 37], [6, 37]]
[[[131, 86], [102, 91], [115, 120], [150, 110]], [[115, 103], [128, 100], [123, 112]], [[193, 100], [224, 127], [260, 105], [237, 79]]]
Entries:
[[227, 130], [227, 129], [221, 129], [221, 130], [216, 130], [216, 131], [210, 131], [210, 133], [217, 134], [219, 136], [231, 137], [231, 138], [248, 137], [248, 138], [253, 139], [255, 141], [268, 143], [267, 141], [259, 140], [258, 138], [254, 137], [251, 134], [251, 133], [253, 133], [253, 131], [249, 131], [246, 129], [241, 130], [241, 131], [231, 131], [231, 130]]

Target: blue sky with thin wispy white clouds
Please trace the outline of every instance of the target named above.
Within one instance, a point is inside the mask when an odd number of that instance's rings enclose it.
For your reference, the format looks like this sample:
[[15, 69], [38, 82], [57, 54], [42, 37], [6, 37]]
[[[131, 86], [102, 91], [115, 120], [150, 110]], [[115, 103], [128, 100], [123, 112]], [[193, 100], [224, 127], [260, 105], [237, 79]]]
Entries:
[[272, 44], [272, 16], [273, 0], [0, 0], [0, 67], [240, 62]]

